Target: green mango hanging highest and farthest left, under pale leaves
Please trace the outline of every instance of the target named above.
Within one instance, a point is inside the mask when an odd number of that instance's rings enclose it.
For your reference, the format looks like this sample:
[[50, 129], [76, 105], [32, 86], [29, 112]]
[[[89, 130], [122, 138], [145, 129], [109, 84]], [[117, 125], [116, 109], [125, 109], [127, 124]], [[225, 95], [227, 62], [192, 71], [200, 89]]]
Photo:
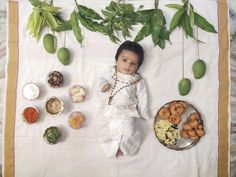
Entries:
[[48, 53], [55, 53], [56, 52], [56, 37], [49, 33], [44, 35], [43, 46]]

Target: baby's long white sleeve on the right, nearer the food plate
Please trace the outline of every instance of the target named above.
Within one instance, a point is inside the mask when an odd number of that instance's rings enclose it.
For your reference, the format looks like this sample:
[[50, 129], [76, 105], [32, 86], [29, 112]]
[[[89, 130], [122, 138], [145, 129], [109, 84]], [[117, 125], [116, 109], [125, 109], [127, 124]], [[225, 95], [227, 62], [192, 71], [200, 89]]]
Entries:
[[150, 119], [150, 109], [148, 101], [148, 89], [145, 81], [142, 79], [137, 84], [137, 100], [138, 100], [138, 111], [142, 118]]

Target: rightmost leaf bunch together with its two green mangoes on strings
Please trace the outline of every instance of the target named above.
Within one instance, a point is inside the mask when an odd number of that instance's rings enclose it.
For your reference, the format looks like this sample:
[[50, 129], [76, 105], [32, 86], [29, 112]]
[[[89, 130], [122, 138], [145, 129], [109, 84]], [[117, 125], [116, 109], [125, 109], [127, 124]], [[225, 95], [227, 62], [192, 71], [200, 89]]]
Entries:
[[[193, 6], [189, 3], [189, 0], [182, 0], [183, 5], [179, 4], [168, 4], [166, 5], [169, 8], [177, 9], [170, 22], [170, 32], [172, 32], [176, 27], [182, 28], [183, 33], [186, 37], [191, 37], [196, 40], [198, 48], [198, 59], [192, 65], [192, 71], [195, 79], [200, 79], [204, 76], [206, 71], [206, 64], [203, 60], [199, 58], [199, 43], [201, 42], [198, 39], [198, 28], [201, 28], [204, 31], [217, 33], [214, 26], [210, 24], [204, 17], [199, 15], [194, 11]], [[193, 34], [193, 28], [196, 26], [197, 34], [196, 37]], [[184, 38], [182, 37], [182, 70], [184, 73]], [[179, 93], [182, 96], [185, 96], [189, 93], [191, 89], [191, 81], [188, 78], [184, 78], [179, 82]]]

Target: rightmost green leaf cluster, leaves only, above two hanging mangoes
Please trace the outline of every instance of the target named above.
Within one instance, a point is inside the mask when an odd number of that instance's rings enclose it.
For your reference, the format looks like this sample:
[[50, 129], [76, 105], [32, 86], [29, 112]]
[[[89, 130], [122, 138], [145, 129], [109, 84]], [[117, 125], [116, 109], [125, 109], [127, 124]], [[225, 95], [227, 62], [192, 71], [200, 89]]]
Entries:
[[194, 26], [197, 26], [204, 31], [217, 33], [212, 24], [210, 24], [204, 17], [194, 11], [194, 8], [189, 3], [189, 0], [182, 0], [182, 2], [183, 5], [166, 5], [169, 8], [174, 8], [177, 10], [170, 22], [170, 32], [172, 32], [176, 27], [180, 27], [184, 30], [186, 37], [190, 36], [196, 39], [193, 34], [193, 28]]

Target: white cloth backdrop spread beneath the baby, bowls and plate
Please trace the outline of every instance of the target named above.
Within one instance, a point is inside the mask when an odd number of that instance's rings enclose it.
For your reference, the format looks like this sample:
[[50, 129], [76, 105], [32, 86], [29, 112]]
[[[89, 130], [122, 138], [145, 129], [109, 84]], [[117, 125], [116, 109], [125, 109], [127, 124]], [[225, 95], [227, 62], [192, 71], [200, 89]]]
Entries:
[[[108, 0], [80, 0], [81, 4], [99, 11], [109, 4]], [[153, 0], [132, 0], [136, 7], [143, 4], [153, 8]], [[175, 10], [165, 4], [180, 1], [160, 1], [169, 24]], [[215, 0], [191, 0], [194, 9], [206, 17], [217, 29], [217, 2]], [[69, 17], [74, 9], [73, 0], [55, 0], [55, 5], [63, 7], [63, 14]], [[195, 80], [191, 65], [197, 59], [197, 45], [192, 39], [185, 39], [185, 76], [192, 80], [192, 90], [185, 96], [178, 94], [181, 79], [181, 30], [171, 35], [172, 45], [167, 43], [164, 50], [153, 48], [148, 37], [140, 44], [145, 49], [145, 61], [140, 73], [146, 79], [153, 117], [166, 102], [181, 99], [193, 104], [204, 119], [206, 136], [193, 148], [185, 151], [170, 150], [160, 144], [153, 131], [153, 121], [140, 120], [143, 143], [137, 155], [109, 159], [100, 148], [94, 131], [98, 103], [96, 79], [98, 73], [114, 64], [118, 44], [110, 42], [107, 36], [93, 33], [82, 27], [85, 36], [83, 47], [75, 40], [72, 32], [66, 32], [66, 46], [72, 52], [70, 65], [62, 65], [56, 54], [48, 54], [42, 45], [42, 37], [37, 43], [26, 32], [27, 19], [32, 6], [27, 0], [19, 1], [19, 70], [17, 86], [17, 107], [15, 123], [15, 176], [16, 177], [216, 177], [218, 157], [218, 35], [199, 30], [200, 58], [207, 63], [205, 77]], [[138, 27], [137, 27], [138, 28]], [[138, 28], [139, 29], [139, 28]], [[47, 32], [44, 31], [44, 34]], [[137, 31], [136, 31], [137, 32]], [[135, 33], [136, 33], [135, 32]], [[133, 34], [133, 36], [135, 35]], [[58, 48], [63, 46], [64, 33], [56, 34]], [[49, 88], [46, 75], [52, 70], [65, 75], [65, 85], [59, 89]], [[21, 89], [27, 82], [40, 85], [41, 96], [36, 101], [23, 99]], [[83, 103], [75, 104], [68, 98], [68, 89], [75, 84], [83, 85], [88, 94]], [[49, 96], [59, 96], [65, 102], [64, 112], [51, 117], [44, 110]], [[34, 105], [41, 111], [41, 120], [33, 125], [22, 121], [24, 107]], [[83, 129], [73, 130], [67, 125], [67, 117], [72, 111], [82, 111], [87, 118]], [[62, 141], [48, 145], [42, 138], [49, 126], [58, 126], [63, 131]]]

